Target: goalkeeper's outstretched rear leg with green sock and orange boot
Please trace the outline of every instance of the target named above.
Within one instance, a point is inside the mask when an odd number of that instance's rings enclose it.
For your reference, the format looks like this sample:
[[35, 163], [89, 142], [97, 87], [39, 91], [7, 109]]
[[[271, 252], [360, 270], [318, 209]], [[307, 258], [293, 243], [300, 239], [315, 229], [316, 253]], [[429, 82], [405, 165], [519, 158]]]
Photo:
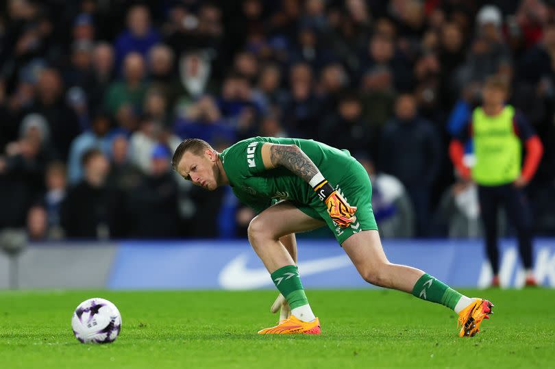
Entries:
[[342, 246], [365, 281], [412, 293], [456, 311], [462, 325], [461, 336], [476, 334], [482, 320], [491, 314], [489, 301], [464, 296], [417, 268], [390, 263], [382, 249], [378, 231], [354, 233]]

